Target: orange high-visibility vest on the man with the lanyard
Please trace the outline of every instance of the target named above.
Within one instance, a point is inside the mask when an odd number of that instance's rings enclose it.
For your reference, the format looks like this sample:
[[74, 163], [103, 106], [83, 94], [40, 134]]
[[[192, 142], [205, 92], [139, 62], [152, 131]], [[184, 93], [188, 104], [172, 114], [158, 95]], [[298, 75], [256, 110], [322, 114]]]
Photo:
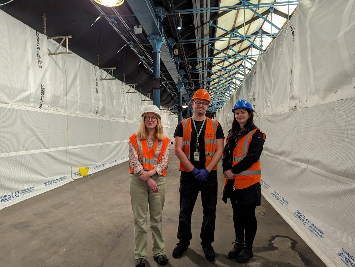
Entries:
[[[182, 128], [184, 129], [184, 137], [182, 139], [182, 151], [184, 151], [186, 157], [190, 160], [190, 141], [191, 141], [191, 132], [192, 132], [191, 118], [182, 120], [181, 123], [182, 123]], [[205, 149], [205, 156], [206, 156], [205, 167], [207, 167], [208, 164], [211, 162], [214, 152], [216, 151], [217, 127], [218, 127], [218, 121], [210, 118], [206, 119], [206, 131], [204, 132], [204, 149]], [[217, 165], [214, 166], [213, 169], [217, 169]], [[181, 161], [179, 165], [179, 171], [190, 172], [190, 170], [186, 168], [181, 163]]]

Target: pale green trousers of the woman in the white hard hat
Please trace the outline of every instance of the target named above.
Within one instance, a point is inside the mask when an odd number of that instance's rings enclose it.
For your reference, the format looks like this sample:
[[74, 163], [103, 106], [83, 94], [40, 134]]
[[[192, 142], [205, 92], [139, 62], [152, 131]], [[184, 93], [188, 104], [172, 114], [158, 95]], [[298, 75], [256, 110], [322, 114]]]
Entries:
[[159, 192], [154, 194], [147, 182], [143, 182], [137, 174], [132, 174], [130, 183], [131, 204], [134, 215], [135, 258], [147, 258], [147, 215], [148, 205], [153, 235], [153, 256], [165, 254], [163, 238], [162, 211], [165, 201], [165, 178], [153, 175]]

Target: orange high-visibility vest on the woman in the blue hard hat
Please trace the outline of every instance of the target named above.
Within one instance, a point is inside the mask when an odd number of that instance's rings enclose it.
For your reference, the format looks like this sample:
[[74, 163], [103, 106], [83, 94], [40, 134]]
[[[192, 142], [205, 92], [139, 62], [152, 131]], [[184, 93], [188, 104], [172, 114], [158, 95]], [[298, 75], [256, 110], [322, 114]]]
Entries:
[[[249, 133], [243, 135], [237, 141], [237, 144], [235, 145], [235, 148], [233, 150], [233, 163], [232, 163], [233, 167], [237, 165], [248, 154], [251, 139], [253, 137], [253, 134], [255, 134], [257, 130], [259, 129], [251, 130]], [[261, 131], [260, 133], [263, 136], [265, 141], [265, 134]], [[227, 143], [228, 143], [228, 137], [229, 134], [226, 139]], [[259, 159], [257, 162], [253, 163], [253, 165], [250, 166], [249, 169], [242, 171], [241, 173], [238, 173], [234, 176], [234, 187], [236, 189], [247, 188], [255, 183], [260, 183], [260, 179], [261, 179], [261, 167], [260, 167], [260, 159]], [[228, 181], [227, 178], [224, 178], [224, 186], [226, 186], [227, 181]]]

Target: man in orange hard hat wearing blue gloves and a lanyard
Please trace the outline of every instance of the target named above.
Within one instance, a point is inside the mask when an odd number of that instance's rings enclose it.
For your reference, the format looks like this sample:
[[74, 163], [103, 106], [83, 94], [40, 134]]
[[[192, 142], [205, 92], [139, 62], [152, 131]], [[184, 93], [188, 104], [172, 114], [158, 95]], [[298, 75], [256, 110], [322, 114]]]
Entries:
[[180, 160], [180, 213], [178, 239], [173, 257], [180, 257], [189, 247], [191, 215], [201, 191], [203, 221], [201, 245], [207, 260], [215, 258], [211, 243], [217, 205], [217, 163], [223, 155], [223, 129], [214, 119], [206, 117], [209, 93], [198, 89], [192, 97], [193, 116], [179, 122], [175, 129], [175, 155]]

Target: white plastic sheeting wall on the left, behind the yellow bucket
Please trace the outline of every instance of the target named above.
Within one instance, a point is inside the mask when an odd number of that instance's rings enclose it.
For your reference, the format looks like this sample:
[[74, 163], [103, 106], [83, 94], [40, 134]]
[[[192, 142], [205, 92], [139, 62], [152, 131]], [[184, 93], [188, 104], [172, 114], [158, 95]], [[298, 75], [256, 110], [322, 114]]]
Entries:
[[[128, 160], [152, 101], [1, 10], [0, 39], [0, 209]], [[162, 109], [170, 139], [177, 120]]]

